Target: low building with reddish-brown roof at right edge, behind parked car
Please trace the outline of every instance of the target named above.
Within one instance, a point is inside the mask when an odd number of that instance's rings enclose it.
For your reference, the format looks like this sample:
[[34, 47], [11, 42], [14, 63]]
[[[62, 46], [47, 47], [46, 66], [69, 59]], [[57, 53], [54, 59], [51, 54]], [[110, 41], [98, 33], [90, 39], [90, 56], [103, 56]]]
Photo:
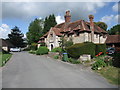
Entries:
[[114, 47], [120, 52], [120, 35], [108, 35], [105, 43], [107, 47]]

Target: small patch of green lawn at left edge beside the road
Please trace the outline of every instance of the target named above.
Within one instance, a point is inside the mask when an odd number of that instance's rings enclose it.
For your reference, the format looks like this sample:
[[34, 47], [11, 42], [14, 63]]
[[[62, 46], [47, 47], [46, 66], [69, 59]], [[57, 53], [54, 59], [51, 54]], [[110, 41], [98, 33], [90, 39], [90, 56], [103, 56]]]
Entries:
[[5, 63], [10, 59], [11, 56], [12, 56], [12, 54], [10, 54], [10, 53], [2, 54], [0, 52], [0, 67], [4, 66]]

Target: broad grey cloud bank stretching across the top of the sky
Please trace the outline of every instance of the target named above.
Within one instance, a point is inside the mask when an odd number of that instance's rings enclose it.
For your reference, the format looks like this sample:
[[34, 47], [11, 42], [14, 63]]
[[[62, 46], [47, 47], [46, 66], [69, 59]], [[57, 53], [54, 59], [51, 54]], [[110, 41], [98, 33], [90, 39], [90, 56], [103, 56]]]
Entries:
[[[99, 0], [101, 1], [101, 0]], [[72, 19], [87, 19], [89, 14], [95, 14], [105, 2], [3, 2], [3, 19], [17, 18], [28, 20], [34, 16], [46, 17], [52, 13], [64, 16], [66, 10], [71, 11]]]

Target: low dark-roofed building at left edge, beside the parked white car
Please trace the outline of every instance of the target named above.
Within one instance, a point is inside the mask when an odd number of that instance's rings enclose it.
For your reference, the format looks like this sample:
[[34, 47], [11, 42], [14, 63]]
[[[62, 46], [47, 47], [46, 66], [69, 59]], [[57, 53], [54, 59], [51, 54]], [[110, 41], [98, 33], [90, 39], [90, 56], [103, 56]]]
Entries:
[[11, 47], [13, 47], [13, 45], [9, 42], [9, 40], [0, 39], [0, 48], [1, 49], [5, 50], [5, 51], [9, 51]]

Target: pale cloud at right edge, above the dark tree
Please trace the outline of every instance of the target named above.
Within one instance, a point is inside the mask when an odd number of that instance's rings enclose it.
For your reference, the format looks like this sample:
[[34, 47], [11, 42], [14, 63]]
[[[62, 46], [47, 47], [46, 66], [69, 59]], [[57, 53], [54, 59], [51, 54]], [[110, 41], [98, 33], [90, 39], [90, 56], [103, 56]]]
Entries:
[[100, 21], [105, 22], [111, 28], [111, 26], [118, 24], [118, 18], [120, 18], [120, 15], [106, 15]]

